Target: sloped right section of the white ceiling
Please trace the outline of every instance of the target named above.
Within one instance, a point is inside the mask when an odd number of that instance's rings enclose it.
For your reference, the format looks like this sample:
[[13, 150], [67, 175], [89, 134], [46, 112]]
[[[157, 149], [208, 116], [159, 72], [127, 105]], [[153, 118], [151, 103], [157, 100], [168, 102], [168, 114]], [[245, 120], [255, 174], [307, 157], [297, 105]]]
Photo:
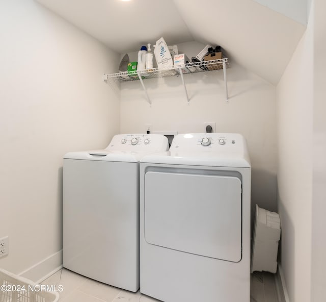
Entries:
[[[221, 45], [230, 59], [277, 84], [306, 27], [251, 0], [174, 0], [195, 40]], [[211, 8], [211, 9], [210, 9]]]

